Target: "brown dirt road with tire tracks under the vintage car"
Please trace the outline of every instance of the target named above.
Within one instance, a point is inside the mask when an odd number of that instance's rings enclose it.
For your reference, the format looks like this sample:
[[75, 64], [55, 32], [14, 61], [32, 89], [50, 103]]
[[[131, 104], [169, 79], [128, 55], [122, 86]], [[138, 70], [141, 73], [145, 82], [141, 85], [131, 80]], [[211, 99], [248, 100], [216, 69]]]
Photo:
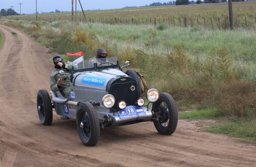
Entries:
[[95, 147], [82, 144], [74, 120], [54, 113], [42, 126], [36, 94], [49, 91], [52, 55], [23, 32], [0, 29], [0, 166], [256, 166], [256, 146], [199, 132], [194, 122], [180, 120], [171, 136], [150, 122], [108, 127]]

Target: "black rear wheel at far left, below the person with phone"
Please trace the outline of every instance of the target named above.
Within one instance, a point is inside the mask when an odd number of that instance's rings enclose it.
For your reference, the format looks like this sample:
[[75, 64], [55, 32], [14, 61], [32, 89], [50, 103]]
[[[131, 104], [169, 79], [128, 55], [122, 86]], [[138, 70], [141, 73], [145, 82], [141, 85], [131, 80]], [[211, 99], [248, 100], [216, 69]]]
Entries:
[[37, 93], [36, 107], [42, 125], [51, 125], [53, 122], [52, 102], [48, 92], [41, 89]]

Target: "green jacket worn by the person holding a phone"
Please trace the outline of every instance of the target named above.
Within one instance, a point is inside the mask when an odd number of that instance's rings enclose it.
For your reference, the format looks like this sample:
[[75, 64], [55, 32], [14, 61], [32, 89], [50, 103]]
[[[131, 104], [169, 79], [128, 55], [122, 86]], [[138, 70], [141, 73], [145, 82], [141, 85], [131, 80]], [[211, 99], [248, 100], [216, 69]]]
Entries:
[[[74, 66], [74, 65], [70, 61], [65, 62], [64, 64], [65, 64], [65, 68], [60, 68], [60, 69], [55, 68], [55, 70], [52, 72], [52, 74], [50, 76], [50, 88], [53, 92], [58, 92], [59, 90], [63, 90], [67, 87], [70, 87], [70, 77], [71, 77], [71, 75], [61, 74], [61, 73], [59, 73], [59, 71], [63, 70], [64, 73], [70, 73], [71, 74], [71, 72], [69, 70], [72, 70], [72, 66]], [[67, 77], [67, 80], [64, 80], [62, 85], [58, 86], [57, 85], [57, 80], [60, 79], [60, 78], [65, 78], [65, 77]]]

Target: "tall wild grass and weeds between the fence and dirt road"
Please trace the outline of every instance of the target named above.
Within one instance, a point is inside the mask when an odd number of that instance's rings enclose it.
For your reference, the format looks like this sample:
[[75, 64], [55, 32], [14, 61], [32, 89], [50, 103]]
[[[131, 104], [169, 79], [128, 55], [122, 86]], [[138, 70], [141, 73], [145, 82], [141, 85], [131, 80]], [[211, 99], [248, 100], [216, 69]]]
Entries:
[[[8, 25], [20, 22], [7, 22]], [[142, 73], [150, 88], [170, 93], [179, 104], [219, 107], [222, 115], [256, 114], [256, 33], [197, 27], [24, 22], [52, 51], [84, 51], [94, 57], [104, 47], [121, 63]], [[36, 26], [35, 26], [36, 25]], [[32, 28], [31, 28], [32, 27]], [[36, 29], [33, 29], [36, 27]], [[55, 34], [54, 38], [49, 38]]]

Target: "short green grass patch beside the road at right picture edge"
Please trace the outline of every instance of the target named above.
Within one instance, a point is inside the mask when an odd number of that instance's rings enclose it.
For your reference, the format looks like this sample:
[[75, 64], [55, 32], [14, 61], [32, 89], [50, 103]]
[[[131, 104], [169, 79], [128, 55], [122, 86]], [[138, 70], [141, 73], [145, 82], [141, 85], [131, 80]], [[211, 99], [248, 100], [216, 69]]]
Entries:
[[256, 119], [235, 119], [214, 124], [206, 128], [209, 132], [227, 134], [240, 138], [241, 141], [256, 144]]

